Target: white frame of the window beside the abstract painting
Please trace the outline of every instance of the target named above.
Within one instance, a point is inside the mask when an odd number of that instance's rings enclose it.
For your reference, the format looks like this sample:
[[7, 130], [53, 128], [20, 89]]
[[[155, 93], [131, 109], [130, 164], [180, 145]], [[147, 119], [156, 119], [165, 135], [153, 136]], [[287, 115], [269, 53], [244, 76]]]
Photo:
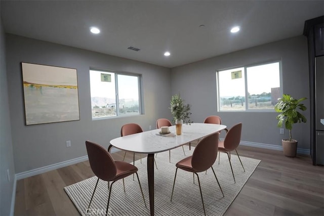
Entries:
[[[102, 116], [102, 117], [93, 117], [92, 116], [92, 103], [91, 103], [91, 82], [90, 82], [90, 71], [97, 71], [97, 72], [105, 72], [105, 73], [113, 73], [114, 74], [114, 82], [115, 82], [115, 104], [116, 104], [116, 115], [114, 116]], [[139, 106], [139, 113], [138, 114], [119, 114], [119, 94], [118, 94], [118, 75], [126, 75], [126, 76], [135, 76], [137, 77], [138, 81], [138, 106]], [[102, 119], [111, 119], [111, 118], [123, 118], [123, 117], [130, 117], [130, 116], [138, 116], [144, 114], [144, 103], [143, 103], [143, 81], [142, 81], [142, 74], [140, 73], [132, 73], [132, 72], [125, 72], [125, 71], [118, 71], [118, 70], [110, 70], [110, 69], [98, 69], [91, 67], [89, 69], [89, 83], [90, 83], [90, 105], [91, 105], [91, 118], [92, 120], [102, 120]]]

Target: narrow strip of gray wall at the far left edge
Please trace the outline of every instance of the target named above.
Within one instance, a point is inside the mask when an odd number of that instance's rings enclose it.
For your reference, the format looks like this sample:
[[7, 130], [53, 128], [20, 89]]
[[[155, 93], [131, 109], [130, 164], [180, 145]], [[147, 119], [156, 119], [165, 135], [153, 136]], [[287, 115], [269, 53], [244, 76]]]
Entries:
[[10, 214], [15, 174], [5, 54], [5, 32], [0, 18], [0, 215]]

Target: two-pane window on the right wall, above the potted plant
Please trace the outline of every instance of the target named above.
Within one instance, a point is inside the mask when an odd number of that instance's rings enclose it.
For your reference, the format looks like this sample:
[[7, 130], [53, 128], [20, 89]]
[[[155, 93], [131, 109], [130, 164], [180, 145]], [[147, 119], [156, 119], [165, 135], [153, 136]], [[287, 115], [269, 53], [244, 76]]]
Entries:
[[217, 71], [218, 111], [273, 111], [280, 71], [280, 62]]

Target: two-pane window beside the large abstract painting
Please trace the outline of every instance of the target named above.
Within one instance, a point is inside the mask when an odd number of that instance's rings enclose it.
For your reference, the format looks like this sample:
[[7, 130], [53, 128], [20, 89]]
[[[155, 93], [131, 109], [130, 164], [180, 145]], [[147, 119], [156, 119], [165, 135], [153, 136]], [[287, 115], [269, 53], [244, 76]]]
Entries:
[[141, 114], [140, 75], [90, 70], [92, 118]]

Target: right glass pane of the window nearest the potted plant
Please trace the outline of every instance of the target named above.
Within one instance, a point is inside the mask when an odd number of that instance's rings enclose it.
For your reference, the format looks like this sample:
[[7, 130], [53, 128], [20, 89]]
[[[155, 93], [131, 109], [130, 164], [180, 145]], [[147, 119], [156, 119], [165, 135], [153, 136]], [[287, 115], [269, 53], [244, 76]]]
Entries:
[[249, 109], [274, 109], [280, 97], [279, 62], [247, 67]]

